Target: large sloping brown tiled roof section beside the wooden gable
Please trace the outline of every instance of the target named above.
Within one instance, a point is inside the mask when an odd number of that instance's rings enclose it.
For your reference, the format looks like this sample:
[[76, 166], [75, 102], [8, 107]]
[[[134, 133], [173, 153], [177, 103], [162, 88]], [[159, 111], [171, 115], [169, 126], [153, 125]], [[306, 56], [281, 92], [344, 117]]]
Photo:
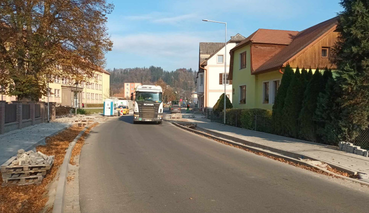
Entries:
[[290, 58], [302, 51], [309, 44], [318, 39], [321, 35], [326, 33], [332, 27], [335, 27], [337, 23], [338, 17], [335, 17], [299, 32], [299, 34], [296, 35], [290, 45], [288, 45], [286, 48], [284, 48], [268, 61], [266, 61], [257, 70], [254, 70], [254, 72], [262, 72], [268, 69], [282, 66]]

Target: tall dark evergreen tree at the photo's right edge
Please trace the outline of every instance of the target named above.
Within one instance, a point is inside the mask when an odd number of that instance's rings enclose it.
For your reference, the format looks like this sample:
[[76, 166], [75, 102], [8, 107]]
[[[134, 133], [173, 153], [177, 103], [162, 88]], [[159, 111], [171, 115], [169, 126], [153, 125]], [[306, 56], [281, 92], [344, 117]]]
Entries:
[[344, 10], [339, 14], [333, 60], [340, 113], [335, 119], [339, 139], [352, 141], [369, 125], [369, 1], [341, 0], [340, 4]]

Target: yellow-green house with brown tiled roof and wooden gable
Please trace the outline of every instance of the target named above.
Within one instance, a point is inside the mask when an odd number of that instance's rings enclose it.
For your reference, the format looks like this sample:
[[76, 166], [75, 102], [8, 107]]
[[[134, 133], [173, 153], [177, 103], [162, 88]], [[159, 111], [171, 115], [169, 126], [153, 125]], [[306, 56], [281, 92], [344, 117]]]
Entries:
[[[272, 109], [284, 67], [325, 67], [335, 45], [338, 17], [303, 31], [258, 29], [230, 51], [234, 108]], [[314, 71], [314, 70], [313, 70]]]

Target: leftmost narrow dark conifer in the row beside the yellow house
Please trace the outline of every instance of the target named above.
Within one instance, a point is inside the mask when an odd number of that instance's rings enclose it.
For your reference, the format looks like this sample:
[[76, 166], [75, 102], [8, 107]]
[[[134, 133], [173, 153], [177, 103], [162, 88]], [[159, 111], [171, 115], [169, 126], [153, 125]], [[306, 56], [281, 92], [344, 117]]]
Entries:
[[274, 100], [272, 111], [273, 132], [276, 134], [284, 134], [283, 123], [283, 106], [287, 95], [288, 87], [293, 78], [293, 70], [289, 64], [284, 68], [282, 80], [277, 91], [277, 96]]

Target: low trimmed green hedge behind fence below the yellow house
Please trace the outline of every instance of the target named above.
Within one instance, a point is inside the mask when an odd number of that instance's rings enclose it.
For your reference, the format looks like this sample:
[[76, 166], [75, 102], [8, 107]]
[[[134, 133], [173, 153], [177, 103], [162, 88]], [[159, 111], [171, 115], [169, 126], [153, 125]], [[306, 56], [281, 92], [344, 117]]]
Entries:
[[227, 109], [225, 122], [229, 126], [272, 133], [272, 111], [268, 109]]

